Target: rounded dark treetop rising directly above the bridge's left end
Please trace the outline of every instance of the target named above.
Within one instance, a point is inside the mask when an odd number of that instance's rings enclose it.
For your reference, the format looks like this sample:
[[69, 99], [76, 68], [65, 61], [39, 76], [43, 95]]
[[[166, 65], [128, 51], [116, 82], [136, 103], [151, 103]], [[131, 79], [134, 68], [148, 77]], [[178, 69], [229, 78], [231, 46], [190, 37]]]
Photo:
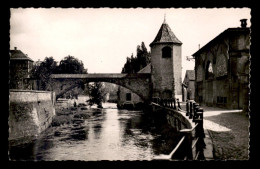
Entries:
[[58, 73], [77, 74], [84, 73], [84, 65], [74, 56], [66, 56], [60, 61]]

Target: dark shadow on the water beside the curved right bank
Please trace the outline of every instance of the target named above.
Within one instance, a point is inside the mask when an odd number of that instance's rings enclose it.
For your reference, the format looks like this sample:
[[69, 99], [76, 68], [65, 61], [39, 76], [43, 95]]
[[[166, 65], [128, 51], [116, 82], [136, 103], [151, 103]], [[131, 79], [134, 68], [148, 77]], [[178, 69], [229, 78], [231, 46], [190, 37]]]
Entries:
[[[138, 115], [119, 119], [120, 124], [125, 125], [123, 142], [127, 143], [134, 138], [138, 147], [148, 148], [151, 145], [155, 155], [170, 154], [182, 136], [168, 124], [166, 116], [150, 112], [131, 111], [131, 113]], [[183, 157], [181, 151], [180, 149], [174, 158], [181, 159]]]

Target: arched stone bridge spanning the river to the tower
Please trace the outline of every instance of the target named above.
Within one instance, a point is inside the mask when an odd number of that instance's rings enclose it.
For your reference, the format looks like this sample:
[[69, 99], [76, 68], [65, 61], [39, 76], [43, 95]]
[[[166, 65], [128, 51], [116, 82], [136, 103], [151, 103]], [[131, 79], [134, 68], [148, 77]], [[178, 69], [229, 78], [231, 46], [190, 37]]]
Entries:
[[67, 91], [89, 82], [109, 82], [123, 86], [136, 93], [145, 102], [149, 102], [152, 97], [152, 82], [150, 73], [52, 74], [51, 90], [55, 92], [56, 99], [58, 99]]

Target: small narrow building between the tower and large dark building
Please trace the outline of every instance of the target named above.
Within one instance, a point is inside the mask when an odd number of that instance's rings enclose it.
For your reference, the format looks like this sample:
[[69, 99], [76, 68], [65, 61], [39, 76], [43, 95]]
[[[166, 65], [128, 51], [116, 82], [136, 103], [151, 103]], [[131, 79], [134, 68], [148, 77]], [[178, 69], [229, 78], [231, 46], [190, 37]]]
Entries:
[[195, 70], [186, 70], [182, 98], [183, 101], [195, 99]]

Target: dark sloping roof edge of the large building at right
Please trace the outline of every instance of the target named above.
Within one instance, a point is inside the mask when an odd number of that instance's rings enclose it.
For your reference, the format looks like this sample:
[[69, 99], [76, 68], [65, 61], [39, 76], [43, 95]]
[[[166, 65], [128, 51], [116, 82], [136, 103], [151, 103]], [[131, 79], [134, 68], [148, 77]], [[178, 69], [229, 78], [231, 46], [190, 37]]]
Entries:
[[197, 52], [192, 54], [192, 56], [195, 57], [195, 56], [199, 55], [201, 52], [203, 52], [205, 49], [207, 49], [209, 46], [211, 46], [216, 41], [218, 41], [224, 37], [230, 36], [232, 34], [238, 34], [238, 33], [250, 33], [250, 29], [241, 28], [241, 27], [240, 28], [228, 28], [225, 31], [223, 31], [222, 33], [220, 33], [218, 36], [216, 36], [214, 39], [212, 39], [209, 43], [207, 43], [202, 48], [200, 48]]

